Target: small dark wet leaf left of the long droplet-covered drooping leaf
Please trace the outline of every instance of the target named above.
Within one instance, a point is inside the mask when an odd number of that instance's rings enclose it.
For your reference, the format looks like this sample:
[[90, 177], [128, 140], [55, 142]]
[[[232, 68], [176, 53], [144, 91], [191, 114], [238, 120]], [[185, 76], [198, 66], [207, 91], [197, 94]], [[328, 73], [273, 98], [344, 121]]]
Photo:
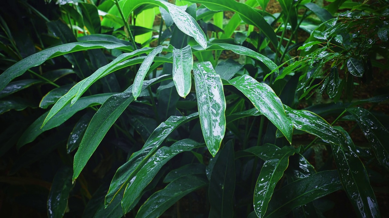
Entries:
[[84, 116], [79, 119], [79, 121], [75, 124], [73, 131], [70, 133], [68, 142], [66, 144], [67, 152], [70, 153], [74, 151], [74, 149], [80, 146], [82, 137], [84, 137], [85, 130], [89, 125], [89, 122], [92, 119], [91, 113], [86, 113]]

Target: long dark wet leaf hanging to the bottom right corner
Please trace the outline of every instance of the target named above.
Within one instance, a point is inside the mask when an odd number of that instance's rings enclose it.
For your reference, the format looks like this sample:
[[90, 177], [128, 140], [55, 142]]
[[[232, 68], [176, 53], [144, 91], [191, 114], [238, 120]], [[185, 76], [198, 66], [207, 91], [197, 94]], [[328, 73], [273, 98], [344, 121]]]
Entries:
[[356, 153], [355, 145], [349, 134], [346, 135], [347, 145], [340, 146], [331, 143], [343, 189], [347, 193], [354, 210], [359, 217], [380, 217], [377, 199], [370, 186], [367, 171]]

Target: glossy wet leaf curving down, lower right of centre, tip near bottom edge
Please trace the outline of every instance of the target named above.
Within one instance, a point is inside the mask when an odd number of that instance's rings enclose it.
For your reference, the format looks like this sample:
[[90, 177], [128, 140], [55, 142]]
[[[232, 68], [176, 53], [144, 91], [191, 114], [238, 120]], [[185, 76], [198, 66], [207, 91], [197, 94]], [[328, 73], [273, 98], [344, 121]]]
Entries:
[[266, 213], [275, 185], [288, 167], [289, 156], [299, 151], [300, 148], [282, 147], [282, 149], [275, 151], [271, 159], [263, 164], [254, 190], [254, 211], [259, 218], [264, 217]]

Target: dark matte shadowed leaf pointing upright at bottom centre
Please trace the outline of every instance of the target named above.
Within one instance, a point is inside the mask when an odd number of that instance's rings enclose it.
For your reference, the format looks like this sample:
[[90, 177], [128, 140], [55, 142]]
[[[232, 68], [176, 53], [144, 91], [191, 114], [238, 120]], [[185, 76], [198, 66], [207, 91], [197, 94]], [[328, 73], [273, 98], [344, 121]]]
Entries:
[[208, 217], [233, 217], [234, 189], [235, 157], [234, 147], [230, 140], [220, 151], [212, 169], [208, 189], [211, 206]]

